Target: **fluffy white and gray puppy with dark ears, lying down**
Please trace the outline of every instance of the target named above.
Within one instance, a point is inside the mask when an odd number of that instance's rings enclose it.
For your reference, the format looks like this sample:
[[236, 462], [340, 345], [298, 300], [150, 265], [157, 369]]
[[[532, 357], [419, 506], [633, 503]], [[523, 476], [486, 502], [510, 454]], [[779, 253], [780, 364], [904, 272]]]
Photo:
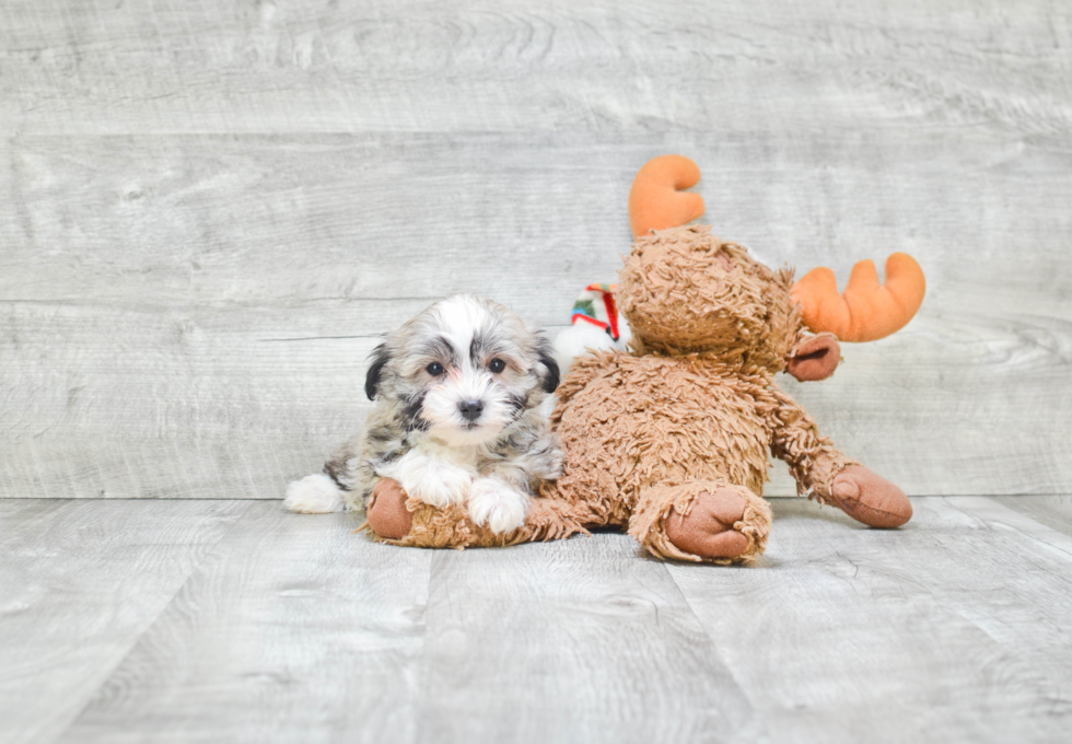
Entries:
[[292, 483], [286, 507], [363, 509], [380, 478], [434, 507], [466, 503], [496, 533], [520, 527], [533, 486], [561, 475], [548, 423], [559, 371], [550, 344], [504, 306], [468, 294], [442, 300], [372, 352], [364, 431], [324, 474]]

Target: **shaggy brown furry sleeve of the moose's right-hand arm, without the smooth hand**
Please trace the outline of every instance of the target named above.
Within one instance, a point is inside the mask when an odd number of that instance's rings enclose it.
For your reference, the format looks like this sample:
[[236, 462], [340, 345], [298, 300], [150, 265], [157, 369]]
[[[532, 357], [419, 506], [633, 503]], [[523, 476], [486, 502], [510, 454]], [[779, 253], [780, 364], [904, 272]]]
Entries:
[[778, 406], [771, 414], [773, 438], [770, 451], [789, 465], [796, 492], [827, 503], [834, 479], [849, 465], [859, 465], [819, 434], [815, 420], [789, 395], [772, 391]]

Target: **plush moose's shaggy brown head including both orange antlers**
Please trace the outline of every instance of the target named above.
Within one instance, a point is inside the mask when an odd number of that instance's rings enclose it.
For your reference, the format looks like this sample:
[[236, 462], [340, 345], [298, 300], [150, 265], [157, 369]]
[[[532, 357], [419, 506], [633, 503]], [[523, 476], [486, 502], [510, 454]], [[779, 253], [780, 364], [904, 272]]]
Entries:
[[703, 212], [698, 195], [678, 190], [698, 181], [691, 161], [665, 155], [633, 182], [637, 241], [621, 270], [618, 303], [637, 351], [712, 353], [822, 380], [838, 364], [838, 339], [882, 338], [919, 310], [923, 272], [905, 254], [886, 261], [885, 287], [874, 264], [861, 261], [842, 295], [829, 269], [814, 269], [794, 284], [792, 269], [769, 269], [709, 226], [678, 226]]

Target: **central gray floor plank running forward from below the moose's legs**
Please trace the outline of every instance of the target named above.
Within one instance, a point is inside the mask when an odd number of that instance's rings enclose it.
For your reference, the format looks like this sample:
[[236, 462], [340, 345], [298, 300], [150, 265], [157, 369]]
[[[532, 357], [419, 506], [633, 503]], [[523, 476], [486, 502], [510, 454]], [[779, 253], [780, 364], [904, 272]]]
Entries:
[[435, 557], [418, 740], [730, 741], [762, 729], [627, 535]]

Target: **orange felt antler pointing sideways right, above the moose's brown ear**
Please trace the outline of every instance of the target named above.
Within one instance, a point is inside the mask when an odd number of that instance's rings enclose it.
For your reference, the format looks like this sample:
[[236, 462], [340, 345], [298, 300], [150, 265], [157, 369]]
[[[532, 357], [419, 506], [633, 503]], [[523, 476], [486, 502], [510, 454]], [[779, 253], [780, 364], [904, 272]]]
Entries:
[[842, 294], [834, 271], [814, 268], [793, 286], [804, 323], [815, 333], [829, 332], [842, 341], [874, 341], [900, 330], [923, 303], [923, 269], [907, 253], [886, 259], [886, 283], [869, 258], [852, 267]]

